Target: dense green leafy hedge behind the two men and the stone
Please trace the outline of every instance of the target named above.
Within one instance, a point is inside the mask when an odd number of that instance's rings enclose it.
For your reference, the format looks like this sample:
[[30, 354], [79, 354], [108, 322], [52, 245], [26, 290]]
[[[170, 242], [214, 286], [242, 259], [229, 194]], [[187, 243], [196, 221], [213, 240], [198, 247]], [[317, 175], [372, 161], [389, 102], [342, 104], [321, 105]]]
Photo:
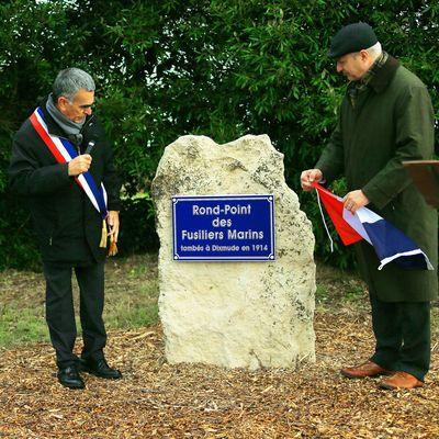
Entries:
[[[313, 167], [331, 133], [342, 97], [345, 79], [326, 55], [330, 37], [344, 24], [368, 21], [384, 48], [426, 82], [439, 109], [438, 14], [436, 2], [409, 0], [4, 1], [0, 194], [11, 134], [56, 72], [75, 65], [97, 78], [98, 112], [115, 145], [126, 196], [124, 251], [157, 245], [150, 202], [131, 199], [148, 193], [166, 145], [189, 133], [218, 143], [266, 133], [284, 154], [286, 181], [313, 222], [316, 254], [351, 267], [352, 255], [339, 241], [329, 254], [315, 196], [299, 187], [301, 171]], [[10, 224], [25, 218], [4, 203], [3, 241]], [[0, 250], [0, 267], [25, 263], [29, 236], [15, 238]]]

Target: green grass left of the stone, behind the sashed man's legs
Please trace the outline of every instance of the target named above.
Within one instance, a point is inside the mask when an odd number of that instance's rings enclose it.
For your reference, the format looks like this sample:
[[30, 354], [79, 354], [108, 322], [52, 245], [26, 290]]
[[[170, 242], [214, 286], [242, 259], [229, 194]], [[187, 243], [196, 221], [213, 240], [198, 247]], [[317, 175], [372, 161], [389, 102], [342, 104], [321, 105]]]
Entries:
[[[79, 289], [74, 281], [74, 303], [79, 323]], [[112, 258], [105, 267], [106, 329], [134, 329], [158, 322], [157, 256]], [[43, 273], [5, 270], [0, 273], [0, 348], [48, 342]]]

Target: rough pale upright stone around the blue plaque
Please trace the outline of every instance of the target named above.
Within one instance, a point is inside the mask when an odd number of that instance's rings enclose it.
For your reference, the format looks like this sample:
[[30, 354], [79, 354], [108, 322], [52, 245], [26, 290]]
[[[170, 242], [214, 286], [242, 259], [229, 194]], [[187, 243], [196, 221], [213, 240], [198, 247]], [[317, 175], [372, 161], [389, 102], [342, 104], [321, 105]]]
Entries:
[[[160, 238], [159, 315], [170, 363], [255, 370], [315, 361], [314, 235], [283, 171], [283, 155], [267, 135], [225, 145], [182, 136], [165, 149], [153, 198]], [[172, 196], [267, 193], [275, 201], [275, 260], [172, 258]]]

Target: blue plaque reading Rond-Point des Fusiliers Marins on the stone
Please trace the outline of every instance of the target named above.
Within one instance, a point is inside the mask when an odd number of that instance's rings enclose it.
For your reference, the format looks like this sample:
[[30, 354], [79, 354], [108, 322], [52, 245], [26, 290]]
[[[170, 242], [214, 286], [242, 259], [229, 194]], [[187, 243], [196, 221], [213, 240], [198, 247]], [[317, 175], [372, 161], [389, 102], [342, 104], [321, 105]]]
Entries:
[[273, 195], [172, 196], [173, 259], [274, 260]]

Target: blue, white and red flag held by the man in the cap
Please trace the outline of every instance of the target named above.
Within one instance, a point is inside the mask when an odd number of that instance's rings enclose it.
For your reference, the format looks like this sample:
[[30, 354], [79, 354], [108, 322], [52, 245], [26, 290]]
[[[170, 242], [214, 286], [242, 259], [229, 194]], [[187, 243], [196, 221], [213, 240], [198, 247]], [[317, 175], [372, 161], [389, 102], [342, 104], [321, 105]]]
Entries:
[[376, 252], [380, 260], [379, 270], [382, 270], [385, 264], [392, 261], [406, 270], [434, 270], [427, 255], [410, 238], [380, 215], [367, 207], [360, 207], [352, 214], [344, 207], [340, 196], [335, 195], [316, 182], [313, 182], [313, 187], [316, 189], [317, 199], [324, 204], [342, 244], [349, 246], [365, 239]]

